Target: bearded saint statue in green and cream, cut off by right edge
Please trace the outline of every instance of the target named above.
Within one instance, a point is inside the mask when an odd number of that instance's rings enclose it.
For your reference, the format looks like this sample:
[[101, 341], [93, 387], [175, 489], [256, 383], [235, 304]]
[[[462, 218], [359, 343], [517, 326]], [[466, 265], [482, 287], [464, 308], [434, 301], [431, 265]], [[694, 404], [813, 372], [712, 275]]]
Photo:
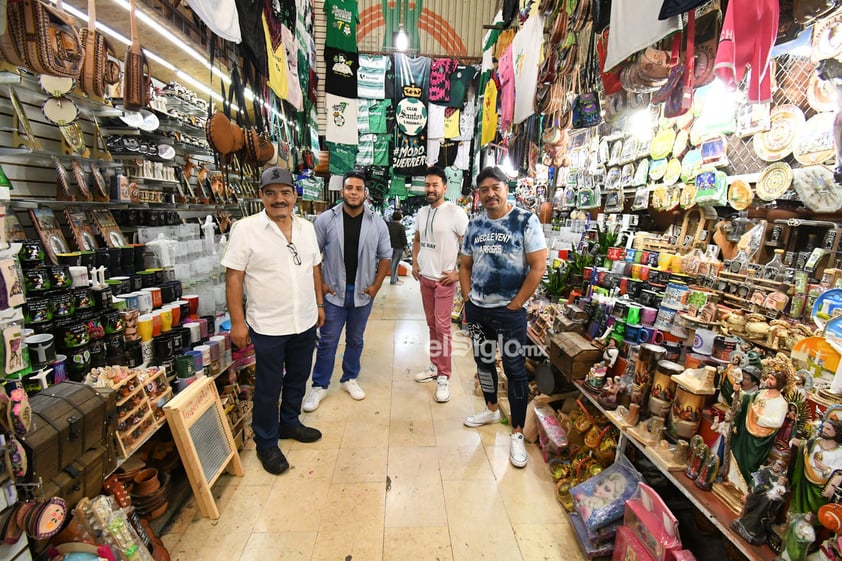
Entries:
[[818, 436], [807, 442], [793, 439], [797, 446], [792, 474], [790, 511], [818, 514], [828, 500], [822, 490], [834, 470], [842, 469], [842, 418], [839, 409], [825, 414]]

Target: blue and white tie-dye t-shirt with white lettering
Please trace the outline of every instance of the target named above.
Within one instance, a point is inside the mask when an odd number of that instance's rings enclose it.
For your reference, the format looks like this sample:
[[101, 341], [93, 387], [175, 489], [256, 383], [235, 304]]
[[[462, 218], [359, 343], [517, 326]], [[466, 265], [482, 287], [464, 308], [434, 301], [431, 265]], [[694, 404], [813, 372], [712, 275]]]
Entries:
[[531, 212], [513, 207], [496, 220], [474, 217], [462, 242], [462, 253], [473, 258], [471, 302], [482, 308], [507, 305], [529, 273], [526, 255], [546, 247], [544, 230]]

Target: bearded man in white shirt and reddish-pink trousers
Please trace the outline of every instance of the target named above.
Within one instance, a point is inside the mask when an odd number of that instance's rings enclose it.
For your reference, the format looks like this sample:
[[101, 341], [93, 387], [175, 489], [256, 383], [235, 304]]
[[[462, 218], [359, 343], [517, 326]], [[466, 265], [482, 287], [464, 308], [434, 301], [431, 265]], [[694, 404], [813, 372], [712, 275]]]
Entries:
[[424, 192], [429, 205], [421, 208], [412, 241], [412, 276], [421, 283], [421, 302], [430, 330], [430, 366], [415, 375], [416, 382], [436, 380], [436, 401], [450, 401], [453, 296], [459, 285], [457, 259], [468, 215], [445, 201], [447, 175], [439, 167], [427, 169]]

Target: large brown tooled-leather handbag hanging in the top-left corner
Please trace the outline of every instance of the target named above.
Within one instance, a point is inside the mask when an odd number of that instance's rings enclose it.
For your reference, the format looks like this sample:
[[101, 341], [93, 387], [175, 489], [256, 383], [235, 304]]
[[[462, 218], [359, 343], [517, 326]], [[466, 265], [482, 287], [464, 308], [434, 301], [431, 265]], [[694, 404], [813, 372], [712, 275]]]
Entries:
[[6, 32], [0, 35], [0, 53], [15, 66], [36, 74], [79, 77], [82, 43], [74, 20], [42, 0], [9, 1]]

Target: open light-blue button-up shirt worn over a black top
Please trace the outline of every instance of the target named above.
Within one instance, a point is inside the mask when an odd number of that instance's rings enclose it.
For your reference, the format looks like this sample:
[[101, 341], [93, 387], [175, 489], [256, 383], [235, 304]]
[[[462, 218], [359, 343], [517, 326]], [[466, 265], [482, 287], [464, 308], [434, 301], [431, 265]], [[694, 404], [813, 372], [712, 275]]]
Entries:
[[[336, 306], [345, 305], [345, 226], [342, 203], [321, 213], [313, 225], [322, 251], [322, 276], [325, 283], [336, 294], [325, 294], [325, 300]], [[389, 228], [382, 217], [370, 208], [363, 210], [360, 227], [359, 254], [357, 255], [357, 278], [354, 279], [354, 306], [365, 306], [371, 301], [362, 290], [371, 286], [377, 276], [377, 265], [381, 259], [391, 259], [392, 242]]]

